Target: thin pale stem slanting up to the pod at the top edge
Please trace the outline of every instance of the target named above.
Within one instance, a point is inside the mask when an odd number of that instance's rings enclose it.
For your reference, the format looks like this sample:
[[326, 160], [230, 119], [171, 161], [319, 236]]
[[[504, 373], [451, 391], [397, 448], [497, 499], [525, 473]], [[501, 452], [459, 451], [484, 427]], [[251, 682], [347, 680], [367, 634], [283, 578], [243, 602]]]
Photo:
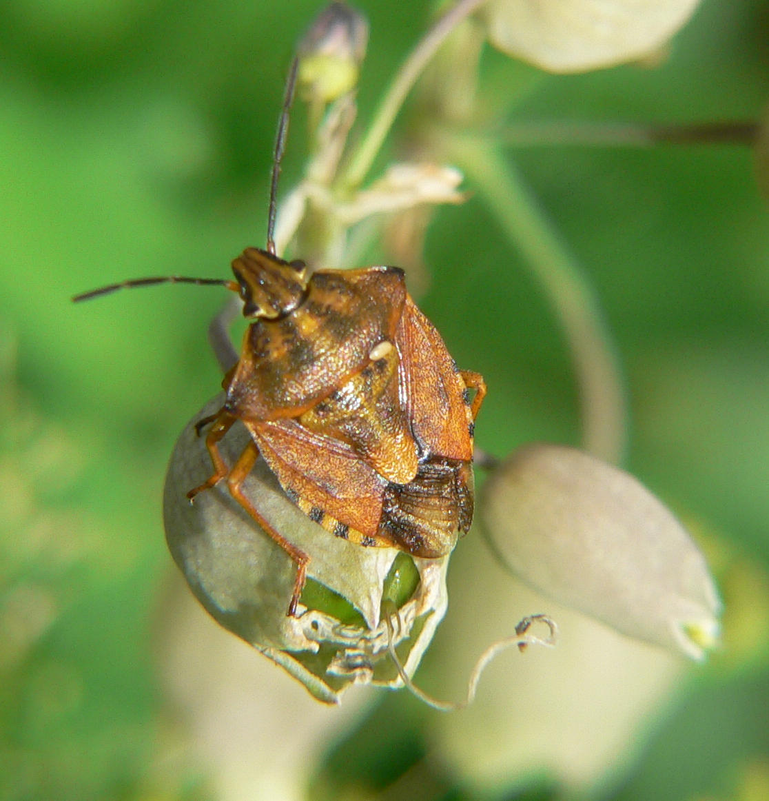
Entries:
[[384, 139], [393, 127], [398, 112], [401, 111], [406, 96], [409, 95], [422, 70], [457, 25], [485, 2], [486, 0], [458, 0], [456, 5], [452, 6], [417, 43], [390, 84], [364, 139], [352, 156], [342, 181], [345, 187], [355, 189], [364, 182]]

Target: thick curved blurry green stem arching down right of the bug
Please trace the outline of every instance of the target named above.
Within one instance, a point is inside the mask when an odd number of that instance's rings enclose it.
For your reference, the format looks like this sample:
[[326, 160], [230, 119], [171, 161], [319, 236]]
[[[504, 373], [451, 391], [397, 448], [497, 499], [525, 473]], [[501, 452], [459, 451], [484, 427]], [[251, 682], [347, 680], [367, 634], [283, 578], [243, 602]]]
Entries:
[[586, 277], [497, 143], [454, 135], [446, 144], [449, 157], [489, 204], [510, 244], [525, 256], [562, 324], [579, 388], [582, 446], [606, 461], [621, 461], [626, 440], [622, 381]]

